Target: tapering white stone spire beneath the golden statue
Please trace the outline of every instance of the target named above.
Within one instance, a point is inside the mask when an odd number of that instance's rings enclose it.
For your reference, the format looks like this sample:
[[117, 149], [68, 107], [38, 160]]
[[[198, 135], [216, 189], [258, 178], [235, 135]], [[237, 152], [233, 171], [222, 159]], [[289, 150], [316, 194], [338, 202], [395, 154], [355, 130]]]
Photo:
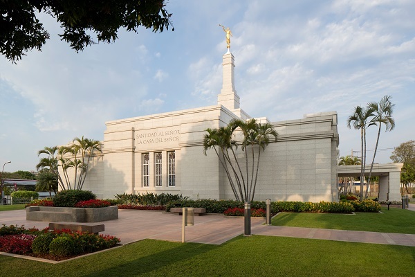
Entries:
[[223, 55], [223, 84], [221, 94], [218, 95], [218, 105], [230, 109], [239, 109], [239, 96], [234, 84], [234, 56], [228, 52]]

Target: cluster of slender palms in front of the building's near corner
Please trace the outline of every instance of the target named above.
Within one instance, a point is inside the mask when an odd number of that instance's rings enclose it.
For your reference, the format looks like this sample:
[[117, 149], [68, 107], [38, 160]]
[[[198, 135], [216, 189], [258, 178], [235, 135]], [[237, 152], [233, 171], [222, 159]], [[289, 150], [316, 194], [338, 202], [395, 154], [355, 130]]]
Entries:
[[[264, 151], [271, 139], [277, 141], [277, 132], [269, 123], [261, 124], [252, 118], [247, 121], [231, 120], [225, 127], [206, 129], [203, 138], [203, 152], [211, 148], [219, 157], [237, 201], [252, 202], [257, 186], [261, 150]], [[239, 145], [245, 158], [245, 172], [237, 159], [238, 143], [235, 132], [241, 132], [243, 139]]]

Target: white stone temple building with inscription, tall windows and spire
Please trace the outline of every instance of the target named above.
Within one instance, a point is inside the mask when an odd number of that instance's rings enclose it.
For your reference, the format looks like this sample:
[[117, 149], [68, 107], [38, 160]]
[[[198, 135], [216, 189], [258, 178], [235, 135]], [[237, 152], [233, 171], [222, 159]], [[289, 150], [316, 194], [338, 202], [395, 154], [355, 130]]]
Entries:
[[[153, 192], [234, 199], [215, 152], [203, 154], [205, 129], [225, 126], [232, 118], [250, 116], [239, 107], [234, 57], [227, 53], [218, 105], [107, 122], [104, 155], [95, 159], [84, 189], [100, 198]], [[337, 114], [308, 114], [271, 124], [279, 137], [261, 153], [255, 200], [338, 201]], [[242, 161], [243, 152], [238, 153]]]

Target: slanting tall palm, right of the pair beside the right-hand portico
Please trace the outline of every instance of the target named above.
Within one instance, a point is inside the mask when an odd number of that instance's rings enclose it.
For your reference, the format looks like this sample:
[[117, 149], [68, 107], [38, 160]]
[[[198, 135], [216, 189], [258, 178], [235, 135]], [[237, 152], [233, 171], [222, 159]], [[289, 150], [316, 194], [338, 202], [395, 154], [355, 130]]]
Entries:
[[[369, 172], [369, 178], [371, 177], [371, 172], [374, 168], [374, 162], [376, 157], [376, 151], [378, 150], [378, 143], [379, 143], [379, 136], [380, 136], [380, 129], [382, 127], [382, 124], [385, 125], [386, 129], [385, 132], [391, 131], [395, 127], [395, 120], [392, 117], [392, 112], [394, 111], [395, 104], [392, 104], [391, 102], [391, 96], [383, 96], [380, 101], [377, 102], [370, 102], [367, 107], [374, 110], [374, 118], [371, 119], [371, 123], [374, 123], [376, 125], [379, 125], [378, 128], [378, 138], [376, 139], [376, 146], [375, 146], [375, 152], [374, 152], [374, 159], [372, 159], [371, 166], [370, 166], [370, 172]], [[366, 185], [366, 194], [365, 197], [367, 197], [367, 191], [369, 188], [369, 184]]]

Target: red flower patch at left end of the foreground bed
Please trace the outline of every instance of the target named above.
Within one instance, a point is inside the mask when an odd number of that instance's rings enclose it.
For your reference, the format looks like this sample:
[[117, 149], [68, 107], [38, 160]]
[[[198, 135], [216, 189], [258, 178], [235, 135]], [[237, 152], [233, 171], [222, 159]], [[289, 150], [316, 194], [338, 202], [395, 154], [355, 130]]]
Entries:
[[34, 239], [35, 235], [4, 235], [0, 237], [0, 251], [14, 254], [30, 253]]

